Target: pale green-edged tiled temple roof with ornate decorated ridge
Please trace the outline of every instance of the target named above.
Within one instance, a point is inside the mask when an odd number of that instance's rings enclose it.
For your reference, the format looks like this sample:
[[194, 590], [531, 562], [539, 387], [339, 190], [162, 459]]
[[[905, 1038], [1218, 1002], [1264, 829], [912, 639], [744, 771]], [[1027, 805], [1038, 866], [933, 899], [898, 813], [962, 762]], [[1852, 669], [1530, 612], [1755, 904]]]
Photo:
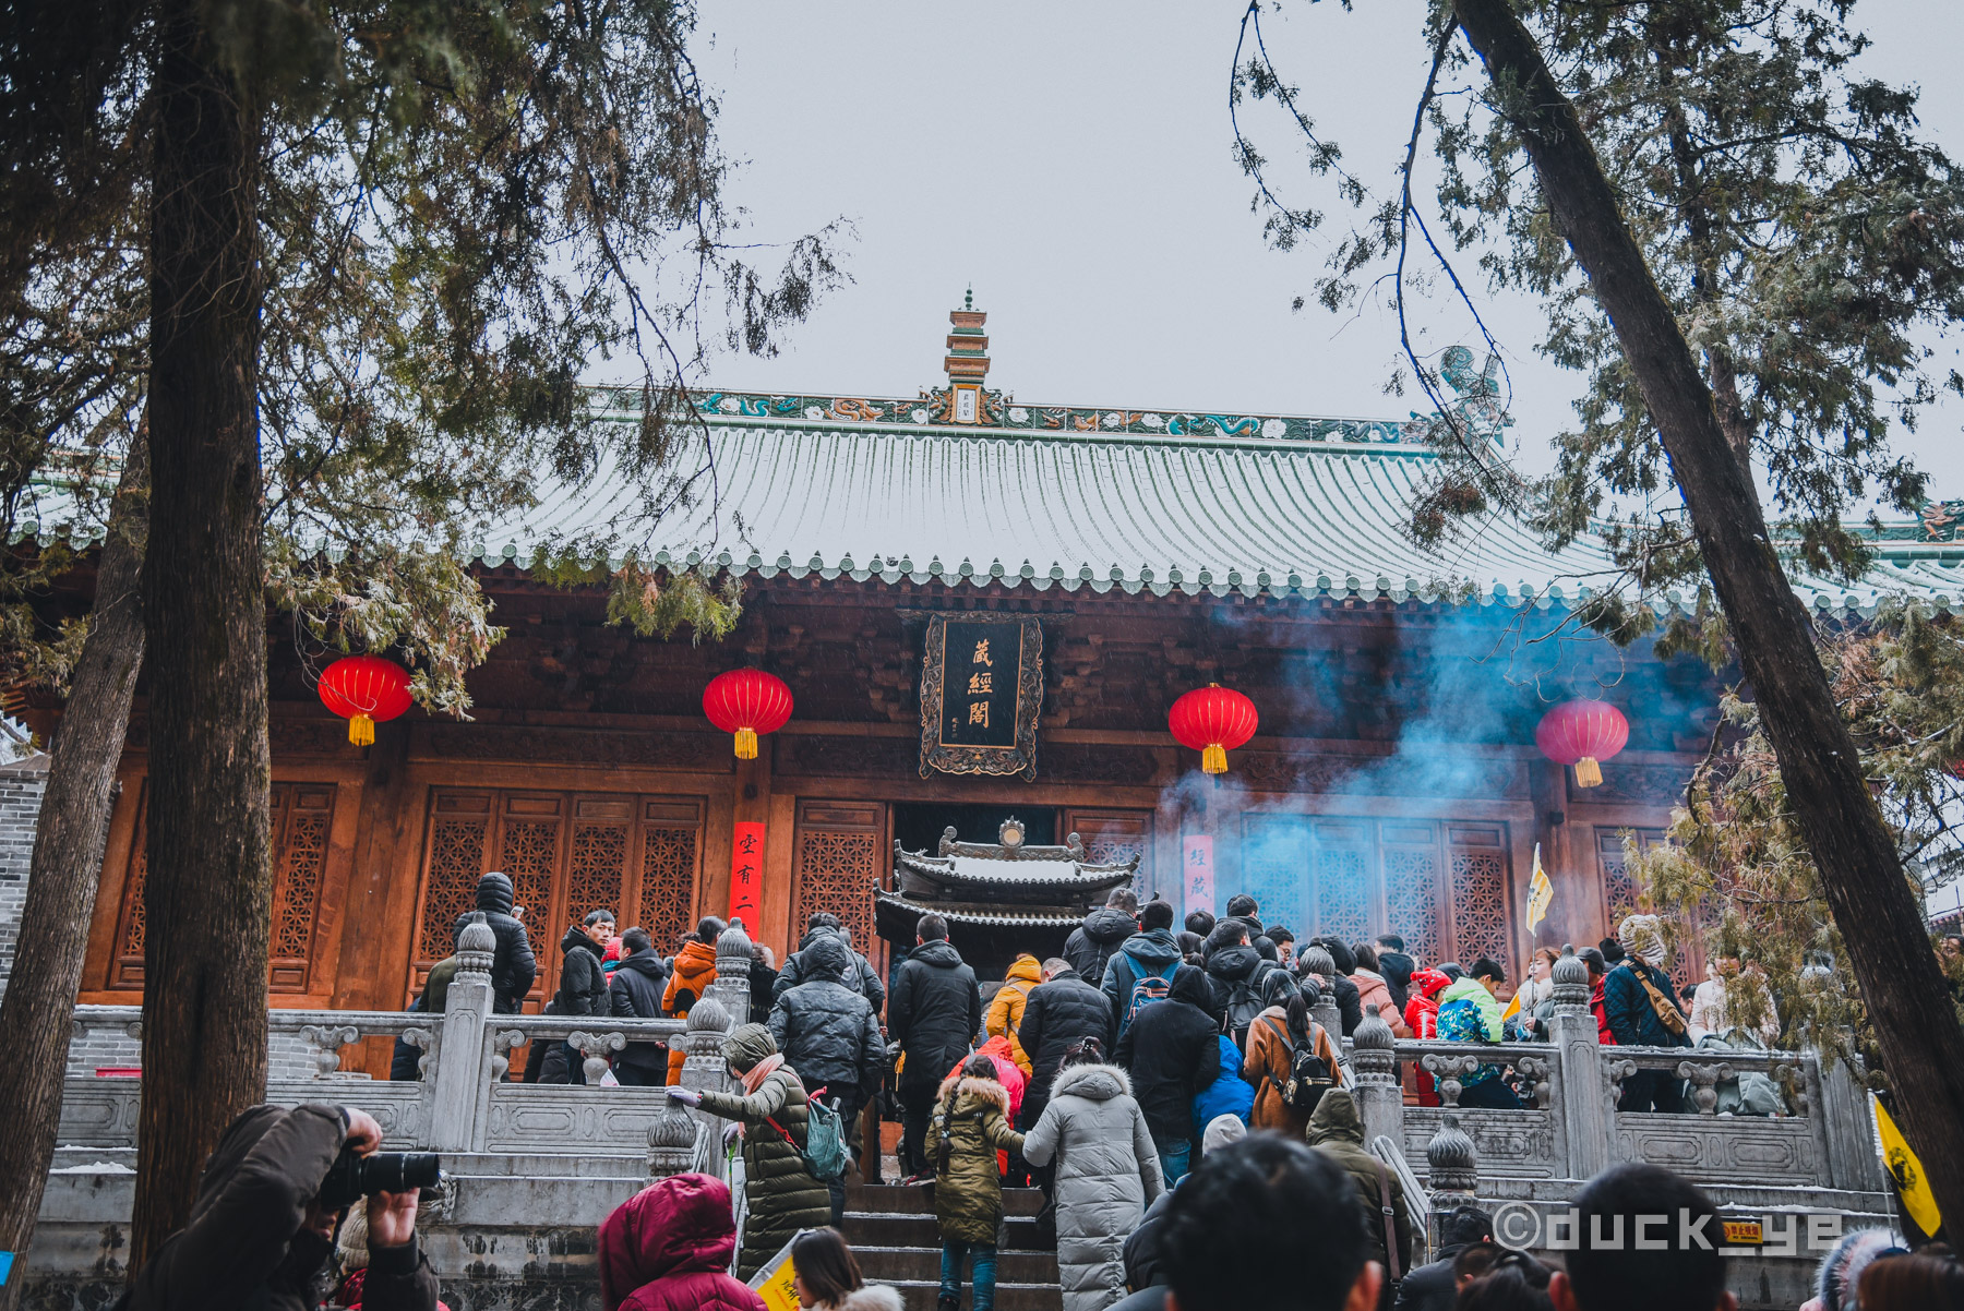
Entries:
[[[656, 559], [713, 557], [762, 579], [1467, 604], [1573, 603], [1616, 579], [1599, 542], [1548, 553], [1499, 516], [1420, 550], [1402, 524], [1436, 455], [1398, 424], [998, 400], [994, 424], [962, 428], [941, 422], [937, 396], [711, 393], [719, 500], [664, 522]], [[491, 526], [477, 555], [522, 565], [540, 542], [632, 510], [632, 497], [605, 481], [550, 493]], [[1872, 612], [1905, 591], [1964, 604], [1964, 542], [1878, 546], [1883, 561], [1860, 587], [1789, 571], [1795, 589], [1830, 610]]]

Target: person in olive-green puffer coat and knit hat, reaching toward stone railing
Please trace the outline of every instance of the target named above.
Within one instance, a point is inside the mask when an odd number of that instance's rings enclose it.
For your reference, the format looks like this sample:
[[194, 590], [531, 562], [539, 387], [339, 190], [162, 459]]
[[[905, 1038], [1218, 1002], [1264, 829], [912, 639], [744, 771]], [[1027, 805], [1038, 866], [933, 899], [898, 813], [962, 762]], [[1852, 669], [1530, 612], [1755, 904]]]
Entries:
[[695, 1093], [670, 1087], [668, 1095], [742, 1125], [744, 1201], [750, 1215], [742, 1227], [736, 1278], [748, 1282], [799, 1229], [829, 1225], [833, 1197], [799, 1156], [805, 1146], [805, 1085], [784, 1064], [770, 1030], [762, 1024], [738, 1024], [723, 1040], [723, 1060], [742, 1081], [742, 1091]]

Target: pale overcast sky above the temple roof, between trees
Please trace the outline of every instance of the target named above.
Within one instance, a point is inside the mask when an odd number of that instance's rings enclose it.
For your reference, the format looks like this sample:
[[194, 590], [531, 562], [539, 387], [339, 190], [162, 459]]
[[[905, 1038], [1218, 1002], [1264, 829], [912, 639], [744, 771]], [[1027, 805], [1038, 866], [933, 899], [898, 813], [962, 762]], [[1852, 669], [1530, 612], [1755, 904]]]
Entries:
[[[1322, 249], [1265, 247], [1231, 159], [1228, 75], [1237, 0], [790, 4], [705, 0], [697, 57], [744, 161], [731, 194], [748, 237], [845, 216], [852, 283], [778, 359], [721, 359], [711, 381], [754, 391], [900, 394], [945, 381], [947, 312], [974, 285], [990, 383], [1023, 402], [1400, 418], [1383, 394], [1398, 359], [1381, 308], [1290, 310]], [[1367, 184], [1389, 186], [1424, 79], [1416, 2], [1288, 4], [1263, 18], [1271, 53], [1318, 130]], [[1925, 90], [1923, 120], [1964, 151], [1964, 4], [1868, 0], [1870, 69]], [[1334, 210], [1286, 130], [1261, 143], [1290, 202]], [[1339, 218], [1339, 216], [1334, 216]], [[1336, 230], [1336, 224], [1332, 224]], [[1522, 461], [1546, 465], [1573, 375], [1542, 363], [1530, 302], [1483, 312], [1508, 353]], [[1475, 343], [1434, 304], [1428, 349]], [[1956, 363], [1942, 347], [1942, 367]], [[1964, 495], [1964, 408], [1899, 438]]]

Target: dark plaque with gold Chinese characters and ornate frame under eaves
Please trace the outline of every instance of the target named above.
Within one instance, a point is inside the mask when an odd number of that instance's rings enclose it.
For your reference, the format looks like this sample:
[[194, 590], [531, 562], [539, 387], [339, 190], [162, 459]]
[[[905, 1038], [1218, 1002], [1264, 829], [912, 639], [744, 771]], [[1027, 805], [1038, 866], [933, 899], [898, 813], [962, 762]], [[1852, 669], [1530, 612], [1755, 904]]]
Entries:
[[1021, 614], [935, 614], [921, 661], [921, 777], [1037, 777], [1043, 628]]

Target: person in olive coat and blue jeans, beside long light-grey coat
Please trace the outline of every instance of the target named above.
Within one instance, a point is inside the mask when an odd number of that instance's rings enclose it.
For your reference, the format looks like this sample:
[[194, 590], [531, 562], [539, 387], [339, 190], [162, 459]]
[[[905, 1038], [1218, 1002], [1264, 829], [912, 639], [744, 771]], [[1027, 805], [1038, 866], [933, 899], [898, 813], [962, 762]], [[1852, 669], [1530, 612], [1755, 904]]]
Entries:
[[1009, 1089], [996, 1062], [970, 1056], [941, 1083], [927, 1158], [935, 1162], [935, 1219], [941, 1223], [941, 1297], [953, 1311], [962, 1297], [962, 1266], [974, 1254], [974, 1307], [996, 1305], [996, 1231], [1002, 1229], [1002, 1176], [996, 1152], [1021, 1152], [1009, 1128]]

